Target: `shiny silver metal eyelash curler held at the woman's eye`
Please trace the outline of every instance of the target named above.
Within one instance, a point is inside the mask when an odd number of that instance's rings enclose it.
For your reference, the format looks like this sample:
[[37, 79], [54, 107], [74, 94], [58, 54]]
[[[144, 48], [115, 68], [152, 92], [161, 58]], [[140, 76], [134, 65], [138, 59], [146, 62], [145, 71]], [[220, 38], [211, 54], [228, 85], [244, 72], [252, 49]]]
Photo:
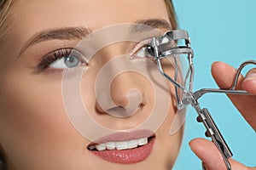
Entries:
[[[184, 42], [183, 45], [177, 45], [174, 47], [173, 44], [180, 40]], [[248, 95], [247, 91], [236, 90], [235, 88], [242, 69], [246, 65], [256, 65], [256, 60], [248, 60], [240, 65], [236, 71], [236, 76], [230, 89], [202, 88], [193, 92], [192, 88], [195, 72], [193, 65], [194, 53], [192, 48], [190, 48], [190, 38], [187, 31], [168, 31], [161, 37], [153, 37], [152, 41], [148, 44], [148, 49], [151, 50], [160, 73], [166, 77], [168, 81], [172, 82], [175, 87], [177, 109], [182, 110], [187, 105], [192, 105], [195, 108], [195, 111], [198, 113], [196, 118], [197, 122], [202, 122], [207, 128], [205, 133], [206, 136], [212, 138], [212, 142], [217, 146], [223, 156], [227, 169], [231, 170], [228, 159], [233, 156], [233, 154], [230, 151], [228, 144], [226, 144], [222, 134], [218, 130], [217, 125], [212, 120], [210, 112], [206, 108], [201, 109], [198, 99], [200, 99], [204, 94], [209, 93]], [[183, 79], [178, 76], [179, 66], [181, 65], [178, 59], [179, 55], [185, 55], [189, 65], [188, 70], [184, 72], [185, 74]], [[175, 71], [172, 76], [168, 75], [168, 73], [164, 71], [162, 59], [172, 59], [172, 69]], [[203, 164], [202, 169], [205, 169]]]

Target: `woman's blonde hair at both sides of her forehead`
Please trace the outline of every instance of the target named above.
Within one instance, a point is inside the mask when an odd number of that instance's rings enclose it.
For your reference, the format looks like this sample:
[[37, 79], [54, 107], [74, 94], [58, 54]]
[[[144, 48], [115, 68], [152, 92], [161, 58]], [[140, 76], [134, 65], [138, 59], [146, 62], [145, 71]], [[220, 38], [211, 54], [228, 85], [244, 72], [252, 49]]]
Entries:
[[[14, 0], [0, 0], [0, 42], [3, 41], [4, 37], [9, 31], [9, 26], [7, 24], [9, 18], [10, 8]], [[169, 20], [173, 30], [177, 29], [177, 18], [175, 10], [172, 4], [172, 0], [165, 0], [166, 9], [169, 14]]]

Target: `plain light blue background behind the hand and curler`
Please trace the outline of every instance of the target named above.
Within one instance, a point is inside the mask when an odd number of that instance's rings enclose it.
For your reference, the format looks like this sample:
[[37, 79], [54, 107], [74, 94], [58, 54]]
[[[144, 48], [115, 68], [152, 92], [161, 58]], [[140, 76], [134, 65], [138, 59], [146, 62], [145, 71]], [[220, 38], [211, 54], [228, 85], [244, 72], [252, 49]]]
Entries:
[[[256, 59], [255, 0], [173, 0], [179, 27], [189, 31], [195, 51], [195, 89], [217, 88], [211, 76], [212, 62], [234, 67]], [[230, 145], [233, 158], [256, 166], [256, 134], [224, 94], [207, 94], [201, 100]], [[181, 153], [174, 170], [201, 169], [201, 161], [189, 149], [189, 140], [204, 137], [205, 128], [190, 109]], [[256, 113], [256, 111], [255, 111]]]

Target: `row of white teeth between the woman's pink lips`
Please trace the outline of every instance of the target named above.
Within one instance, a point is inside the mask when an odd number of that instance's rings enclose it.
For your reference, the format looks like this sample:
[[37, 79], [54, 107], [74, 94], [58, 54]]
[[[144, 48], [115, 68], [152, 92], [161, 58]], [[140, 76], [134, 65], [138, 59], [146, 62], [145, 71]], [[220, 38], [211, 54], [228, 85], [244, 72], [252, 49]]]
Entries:
[[129, 141], [120, 141], [120, 142], [107, 142], [104, 144], [96, 144], [96, 145], [90, 145], [88, 147], [89, 150], [96, 150], [102, 151], [102, 150], [128, 150], [132, 148], [136, 148], [138, 145], [145, 145], [148, 144], [148, 138], [142, 138], [142, 139], [132, 139]]

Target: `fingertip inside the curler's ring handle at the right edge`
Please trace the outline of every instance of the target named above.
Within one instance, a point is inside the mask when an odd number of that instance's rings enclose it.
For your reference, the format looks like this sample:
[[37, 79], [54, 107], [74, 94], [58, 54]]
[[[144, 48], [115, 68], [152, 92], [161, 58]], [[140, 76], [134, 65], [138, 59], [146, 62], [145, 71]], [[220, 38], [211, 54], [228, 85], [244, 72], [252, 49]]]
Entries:
[[242, 87], [251, 94], [256, 94], [256, 69], [247, 73], [245, 80], [242, 82]]

